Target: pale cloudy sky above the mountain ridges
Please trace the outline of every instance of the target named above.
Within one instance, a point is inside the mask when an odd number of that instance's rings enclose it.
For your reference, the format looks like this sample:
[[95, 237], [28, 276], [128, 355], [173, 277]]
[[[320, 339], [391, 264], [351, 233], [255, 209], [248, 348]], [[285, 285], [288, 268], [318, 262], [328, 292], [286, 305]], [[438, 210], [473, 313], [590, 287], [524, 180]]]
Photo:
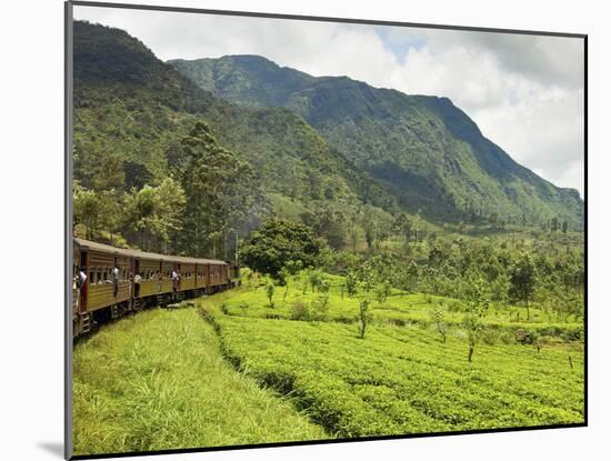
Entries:
[[123, 29], [164, 61], [259, 54], [450, 98], [515, 161], [583, 197], [582, 39], [83, 6], [74, 18]]

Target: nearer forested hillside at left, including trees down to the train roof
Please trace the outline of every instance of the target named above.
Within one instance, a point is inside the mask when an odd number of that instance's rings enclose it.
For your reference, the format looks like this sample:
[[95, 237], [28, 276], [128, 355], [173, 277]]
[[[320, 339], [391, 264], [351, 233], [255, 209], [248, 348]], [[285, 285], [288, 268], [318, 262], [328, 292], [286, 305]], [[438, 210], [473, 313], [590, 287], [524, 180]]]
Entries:
[[[226, 257], [236, 233], [246, 235], [269, 214], [329, 221], [334, 226], [320, 237], [341, 245], [348, 231], [340, 221], [361, 228], [363, 217], [390, 221], [399, 210], [299, 114], [228, 103], [119, 29], [74, 23], [74, 117], [76, 226], [83, 237]], [[214, 152], [224, 163], [203, 164]], [[187, 182], [197, 162], [214, 186], [198, 191]], [[217, 213], [216, 221], [189, 235], [187, 221], [202, 200], [217, 203], [199, 210]], [[229, 203], [234, 216], [219, 211]]]

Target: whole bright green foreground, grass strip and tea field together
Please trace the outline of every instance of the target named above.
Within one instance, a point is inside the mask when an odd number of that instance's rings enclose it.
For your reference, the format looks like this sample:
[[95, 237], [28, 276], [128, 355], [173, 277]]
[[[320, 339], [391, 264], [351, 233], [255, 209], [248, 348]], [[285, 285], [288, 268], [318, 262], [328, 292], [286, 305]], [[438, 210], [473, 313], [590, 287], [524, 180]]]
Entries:
[[[393, 292], [372, 301], [361, 339], [359, 299], [325, 277], [329, 310], [309, 321], [294, 320], [293, 305], [320, 293], [291, 280], [271, 308], [253, 279], [78, 343], [76, 453], [583, 422], [579, 323], [549, 322], [535, 308], [527, 323], [498, 305], [470, 363], [458, 300]], [[447, 315], [445, 342], [433, 307]], [[539, 348], [515, 340], [537, 329]]]

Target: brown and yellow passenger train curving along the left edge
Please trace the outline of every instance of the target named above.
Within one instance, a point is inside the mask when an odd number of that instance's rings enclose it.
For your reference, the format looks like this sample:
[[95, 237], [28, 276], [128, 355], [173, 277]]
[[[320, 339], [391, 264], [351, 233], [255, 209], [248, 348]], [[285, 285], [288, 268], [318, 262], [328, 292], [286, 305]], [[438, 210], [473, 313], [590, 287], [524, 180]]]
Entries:
[[230, 261], [167, 255], [73, 238], [72, 337], [151, 305], [239, 284]]

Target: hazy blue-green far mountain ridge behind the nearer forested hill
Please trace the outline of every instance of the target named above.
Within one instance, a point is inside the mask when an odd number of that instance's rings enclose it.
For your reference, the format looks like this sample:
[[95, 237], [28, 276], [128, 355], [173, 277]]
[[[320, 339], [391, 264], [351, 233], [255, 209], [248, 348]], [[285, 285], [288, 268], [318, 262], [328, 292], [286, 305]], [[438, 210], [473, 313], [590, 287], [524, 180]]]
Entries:
[[537, 223], [557, 217], [583, 227], [578, 191], [518, 164], [447, 98], [317, 78], [257, 56], [168, 63], [233, 103], [300, 114], [402, 206], [430, 219]]

